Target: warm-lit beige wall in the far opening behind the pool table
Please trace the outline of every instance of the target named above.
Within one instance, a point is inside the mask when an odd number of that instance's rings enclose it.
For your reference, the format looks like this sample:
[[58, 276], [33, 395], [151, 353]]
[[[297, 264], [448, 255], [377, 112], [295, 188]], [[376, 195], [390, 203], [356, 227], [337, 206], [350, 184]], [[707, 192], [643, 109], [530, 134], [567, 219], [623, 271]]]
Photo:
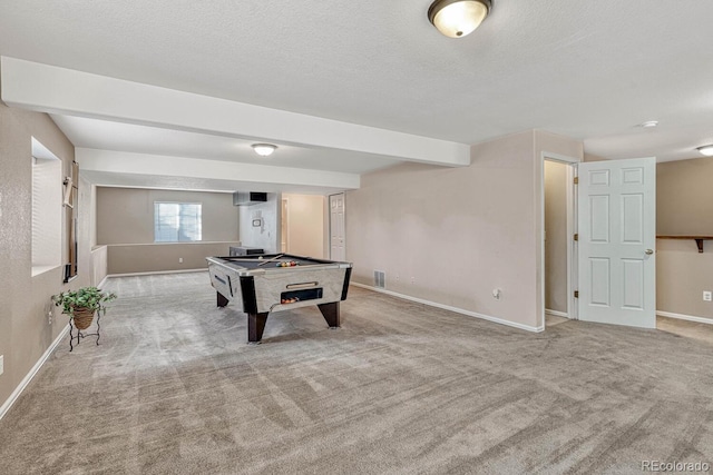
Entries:
[[324, 257], [323, 196], [283, 195], [287, 200], [289, 251], [299, 256]]

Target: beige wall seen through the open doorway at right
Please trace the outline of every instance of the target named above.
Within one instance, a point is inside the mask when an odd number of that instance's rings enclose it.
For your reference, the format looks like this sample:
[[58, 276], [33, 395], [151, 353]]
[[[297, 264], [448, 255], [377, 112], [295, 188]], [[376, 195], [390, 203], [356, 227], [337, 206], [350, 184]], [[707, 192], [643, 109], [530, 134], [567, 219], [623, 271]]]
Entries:
[[567, 167], [545, 161], [545, 308], [567, 313]]

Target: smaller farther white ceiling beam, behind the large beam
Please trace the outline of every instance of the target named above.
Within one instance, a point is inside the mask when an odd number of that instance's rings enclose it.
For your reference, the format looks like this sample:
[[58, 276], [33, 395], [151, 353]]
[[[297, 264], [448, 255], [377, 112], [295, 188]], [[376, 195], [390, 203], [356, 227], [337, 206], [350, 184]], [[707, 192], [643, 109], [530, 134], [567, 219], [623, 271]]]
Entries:
[[82, 171], [162, 177], [170, 175], [203, 180], [234, 180], [256, 185], [293, 185], [330, 189], [358, 189], [360, 176], [339, 171], [272, 167], [197, 158], [130, 154], [77, 148], [75, 157]]

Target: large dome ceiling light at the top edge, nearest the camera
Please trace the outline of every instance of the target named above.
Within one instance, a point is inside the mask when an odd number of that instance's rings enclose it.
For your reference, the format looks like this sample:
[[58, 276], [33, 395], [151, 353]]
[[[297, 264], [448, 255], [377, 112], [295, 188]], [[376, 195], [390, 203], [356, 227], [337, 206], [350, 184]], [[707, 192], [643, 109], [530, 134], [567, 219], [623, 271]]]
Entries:
[[490, 0], [436, 0], [428, 19], [447, 37], [462, 38], [480, 26], [491, 8]]

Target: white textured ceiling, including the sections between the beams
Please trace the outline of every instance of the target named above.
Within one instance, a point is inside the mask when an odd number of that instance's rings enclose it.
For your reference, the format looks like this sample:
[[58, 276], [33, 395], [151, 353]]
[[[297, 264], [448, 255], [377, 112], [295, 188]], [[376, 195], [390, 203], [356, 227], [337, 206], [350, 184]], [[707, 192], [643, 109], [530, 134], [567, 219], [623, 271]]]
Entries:
[[[457, 144], [538, 128], [593, 155], [674, 160], [713, 142], [710, 0], [494, 0], [457, 40], [429, 4], [6, 1], [0, 55]], [[250, 137], [53, 118], [77, 147], [256, 160]], [[361, 174], [400, 159], [304, 144], [270, 164]]]

